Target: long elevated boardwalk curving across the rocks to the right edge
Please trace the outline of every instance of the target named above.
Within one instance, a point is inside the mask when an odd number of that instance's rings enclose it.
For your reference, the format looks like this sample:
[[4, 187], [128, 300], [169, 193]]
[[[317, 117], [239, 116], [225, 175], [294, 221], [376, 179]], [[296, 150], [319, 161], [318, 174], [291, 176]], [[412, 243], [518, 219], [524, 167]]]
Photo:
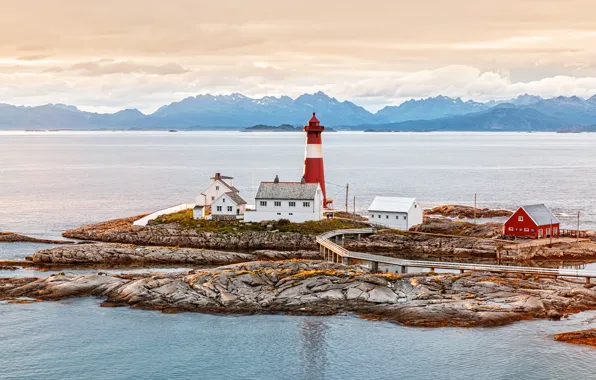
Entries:
[[[429, 268], [434, 269], [450, 269], [459, 270], [461, 273], [465, 271], [483, 271], [496, 273], [521, 273], [533, 274], [538, 276], [550, 277], [576, 277], [585, 278], [586, 284], [590, 283], [590, 279], [596, 278], [596, 272], [579, 270], [579, 269], [557, 269], [557, 268], [537, 268], [537, 267], [523, 267], [523, 266], [507, 266], [507, 265], [488, 265], [488, 264], [467, 264], [467, 263], [452, 263], [442, 261], [421, 261], [421, 260], [405, 260], [395, 257], [387, 257], [381, 255], [373, 255], [370, 253], [348, 251], [338, 241], [344, 241], [348, 235], [355, 235], [357, 238], [361, 236], [373, 235], [376, 233], [374, 228], [362, 229], [346, 229], [335, 230], [327, 232], [323, 235], [317, 236], [317, 244], [324, 260], [336, 263], [350, 264], [351, 259], [368, 261], [371, 264], [373, 272], [379, 270], [379, 263], [386, 265], [395, 265], [401, 267], [401, 273], [407, 273], [409, 267]], [[334, 242], [335, 240], [336, 242]]]

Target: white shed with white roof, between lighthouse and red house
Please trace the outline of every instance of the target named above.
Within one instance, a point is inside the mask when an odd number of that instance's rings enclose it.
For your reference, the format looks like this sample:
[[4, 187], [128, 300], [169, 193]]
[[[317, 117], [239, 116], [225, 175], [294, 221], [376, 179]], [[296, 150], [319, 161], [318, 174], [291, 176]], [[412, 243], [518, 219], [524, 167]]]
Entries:
[[422, 212], [415, 198], [375, 197], [368, 208], [371, 224], [404, 231], [422, 223]]

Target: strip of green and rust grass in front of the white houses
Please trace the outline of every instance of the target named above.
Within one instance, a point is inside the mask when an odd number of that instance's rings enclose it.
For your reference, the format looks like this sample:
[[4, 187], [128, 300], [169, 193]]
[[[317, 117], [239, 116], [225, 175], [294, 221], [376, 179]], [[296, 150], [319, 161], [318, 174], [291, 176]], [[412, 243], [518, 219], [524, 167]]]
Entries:
[[304, 235], [319, 235], [332, 230], [345, 228], [365, 228], [366, 224], [353, 220], [323, 219], [304, 223], [292, 223], [289, 220], [267, 221], [261, 223], [244, 223], [238, 220], [195, 220], [192, 210], [183, 210], [174, 214], [162, 215], [149, 222], [150, 225], [177, 224], [185, 229], [205, 232], [237, 233], [265, 232], [271, 225], [272, 231], [296, 232]]

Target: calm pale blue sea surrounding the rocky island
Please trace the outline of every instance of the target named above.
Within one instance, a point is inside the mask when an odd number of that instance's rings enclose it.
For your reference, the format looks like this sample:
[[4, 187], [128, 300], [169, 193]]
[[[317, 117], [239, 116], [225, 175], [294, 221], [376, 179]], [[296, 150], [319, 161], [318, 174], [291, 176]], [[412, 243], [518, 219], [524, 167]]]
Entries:
[[[85, 223], [192, 203], [215, 172], [234, 177], [252, 203], [260, 181], [300, 179], [304, 143], [302, 133], [0, 132], [0, 231], [59, 238]], [[376, 195], [432, 207], [472, 205], [476, 194], [479, 207], [545, 203], [561, 228], [596, 229], [595, 146], [596, 134], [329, 132], [327, 195], [345, 208], [349, 184], [349, 210], [365, 213]], [[0, 260], [48, 247], [0, 243]], [[0, 303], [0, 379], [596, 378], [596, 350], [552, 337], [596, 327], [596, 312], [426, 329], [353, 315], [170, 315], [100, 302]]]

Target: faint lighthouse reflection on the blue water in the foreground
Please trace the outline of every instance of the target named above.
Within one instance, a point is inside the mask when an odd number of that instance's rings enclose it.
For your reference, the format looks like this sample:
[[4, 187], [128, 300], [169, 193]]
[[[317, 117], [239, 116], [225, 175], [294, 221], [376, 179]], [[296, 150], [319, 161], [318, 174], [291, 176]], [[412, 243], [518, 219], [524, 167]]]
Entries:
[[325, 319], [304, 318], [299, 323], [301, 341], [302, 378], [325, 379], [327, 364], [327, 325]]

